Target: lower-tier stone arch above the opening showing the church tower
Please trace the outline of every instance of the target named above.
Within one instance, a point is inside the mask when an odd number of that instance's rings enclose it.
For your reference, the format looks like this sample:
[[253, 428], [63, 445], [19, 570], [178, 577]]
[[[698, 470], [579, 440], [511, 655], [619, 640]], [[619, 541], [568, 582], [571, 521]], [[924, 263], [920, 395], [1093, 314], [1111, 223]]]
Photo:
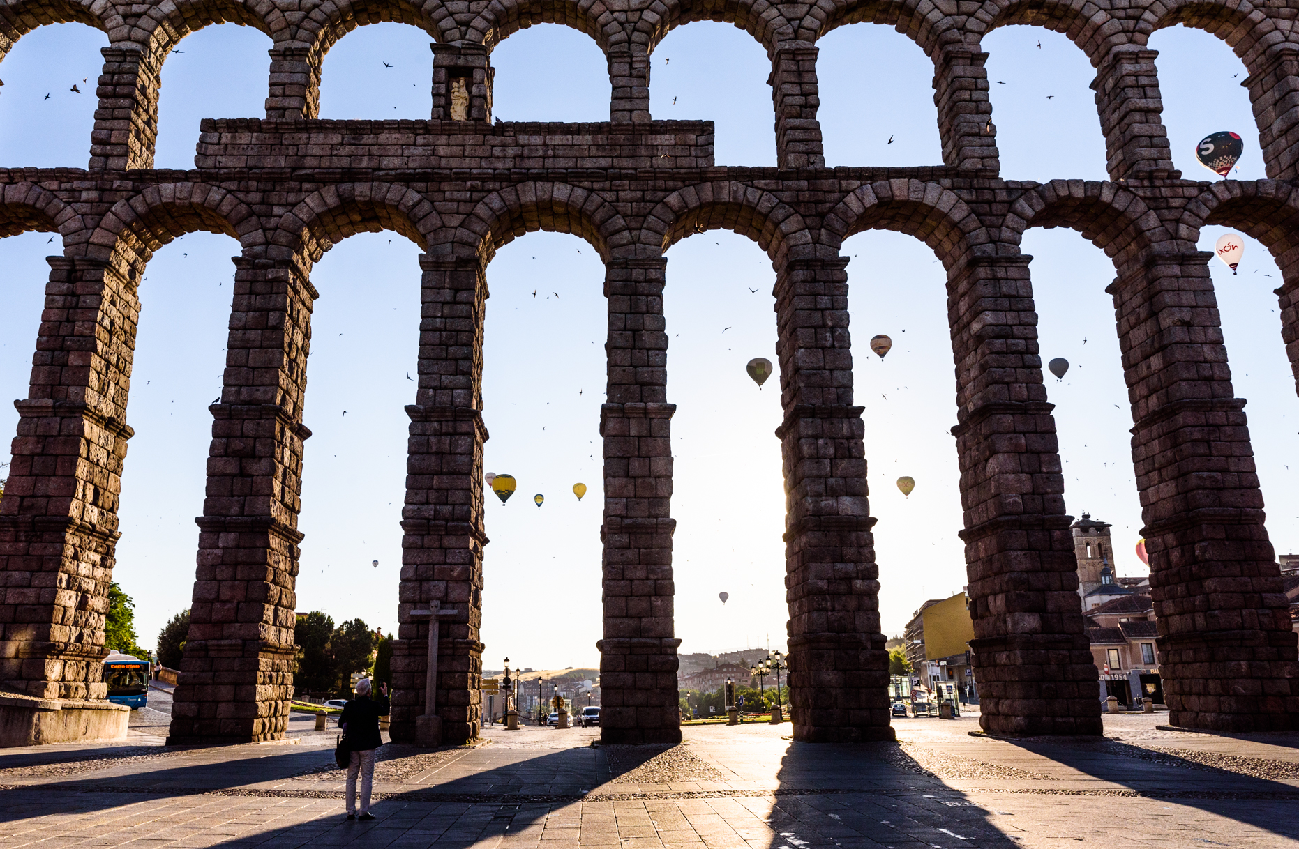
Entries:
[[1018, 248], [1030, 227], [1077, 230], [1122, 266], [1168, 230], [1141, 197], [1111, 182], [1051, 180], [1025, 192], [1007, 213], [998, 241]]

